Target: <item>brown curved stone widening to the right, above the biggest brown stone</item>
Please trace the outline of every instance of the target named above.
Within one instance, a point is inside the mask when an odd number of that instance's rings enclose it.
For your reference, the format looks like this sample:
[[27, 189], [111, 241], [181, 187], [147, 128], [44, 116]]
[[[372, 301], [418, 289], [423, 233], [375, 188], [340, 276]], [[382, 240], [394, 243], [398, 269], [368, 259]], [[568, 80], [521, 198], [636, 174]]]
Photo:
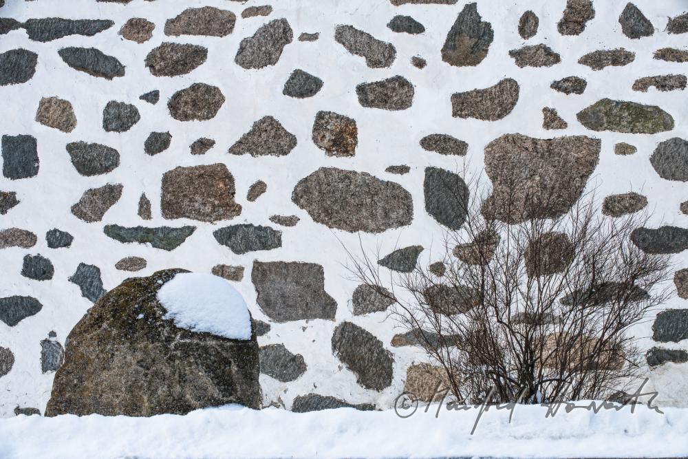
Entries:
[[451, 116], [483, 121], [501, 120], [510, 114], [519, 97], [519, 84], [505, 78], [486, 89], [456, 92], [451, 95]]

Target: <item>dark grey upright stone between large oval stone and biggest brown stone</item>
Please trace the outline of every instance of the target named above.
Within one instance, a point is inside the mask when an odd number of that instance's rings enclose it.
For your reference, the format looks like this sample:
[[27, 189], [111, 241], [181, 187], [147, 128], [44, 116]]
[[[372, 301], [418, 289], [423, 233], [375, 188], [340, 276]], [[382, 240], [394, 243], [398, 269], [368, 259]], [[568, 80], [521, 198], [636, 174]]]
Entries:
[[425, 211], [438, 223], [458, 230], [466, 221], [470, 192], [457, 174], [427, 167], [423, 182]]

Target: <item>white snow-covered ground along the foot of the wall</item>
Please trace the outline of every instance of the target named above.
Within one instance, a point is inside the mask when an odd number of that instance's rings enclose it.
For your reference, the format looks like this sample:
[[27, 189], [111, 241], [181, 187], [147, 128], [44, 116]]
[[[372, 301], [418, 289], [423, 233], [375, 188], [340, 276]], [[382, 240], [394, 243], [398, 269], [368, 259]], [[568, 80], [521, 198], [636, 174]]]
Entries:
[[[578, 404], [582, 404], [579, 402]], [[336, 409], [297, 414], [228, 405], [186, 416], [17, 416], [0, 420], [0, 458], [641, 458], [688, 456], [688, 409], [511, 412]], [[399, 411], [409, 414], [408, 411]]]

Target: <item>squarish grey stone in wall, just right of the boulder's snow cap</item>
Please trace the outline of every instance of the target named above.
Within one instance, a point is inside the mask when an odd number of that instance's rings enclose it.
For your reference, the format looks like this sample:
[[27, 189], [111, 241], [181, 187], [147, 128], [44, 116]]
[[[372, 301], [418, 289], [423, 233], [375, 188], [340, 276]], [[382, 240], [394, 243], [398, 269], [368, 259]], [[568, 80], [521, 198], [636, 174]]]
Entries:
[[253, 262], [257, 303], [276, 322], [334, 320], [337, 303], [325, 292], [325, 272], [314, 263]]

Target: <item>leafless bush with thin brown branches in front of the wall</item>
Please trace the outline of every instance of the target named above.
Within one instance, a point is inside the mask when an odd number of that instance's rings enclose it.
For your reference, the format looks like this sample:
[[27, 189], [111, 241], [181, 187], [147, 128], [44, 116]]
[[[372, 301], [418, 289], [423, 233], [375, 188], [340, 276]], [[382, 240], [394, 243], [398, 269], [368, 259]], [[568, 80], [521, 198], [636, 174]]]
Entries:
[[630, 242], [647, 215], [604, 217], [594, 191], [578, 192], [563, 212], [555, 186], [548, 199], [514, 186], [494, 211], [486, 187], [469, 188], [466, 221], [446, 233], [444, 275], [420, 265], [389, 275], [363, 250], [351, 258], [353, 277], [394, 300], [391, 317], [460, 401], [481, 403], [491, 391], [492, 402], [548, 403], [627, 390], [641, 370], [630, 329], [669, 297], [669, 257]]

